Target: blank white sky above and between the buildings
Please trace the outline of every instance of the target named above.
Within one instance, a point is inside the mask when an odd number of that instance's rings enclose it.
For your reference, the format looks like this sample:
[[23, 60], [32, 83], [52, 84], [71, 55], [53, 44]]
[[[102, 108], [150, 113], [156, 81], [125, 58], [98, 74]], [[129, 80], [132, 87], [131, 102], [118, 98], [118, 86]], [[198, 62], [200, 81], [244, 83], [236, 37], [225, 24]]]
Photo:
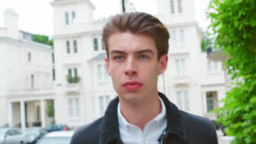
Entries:
[[[14, 9], [19, 15], [19, 29], [32, 34], [53, 35], [53, 0], [1, 0], [0, 27], [3, 27], [3, 12], [7, 8]], [[120, 12], [121, 0], [91, 0], [95, 5], [94, 18], [109, 17]], [[157, 0], [130, 0], [137, 11], [157, 14]], [[189, 0], [190, 1], [190, 0]], [[196, 20], [199, 27], [206, 30], [210, 24], [206, 21], [205, 10], [210, 0], [194, 0]], [[108, 5], [108, 6], [106, 6]]]

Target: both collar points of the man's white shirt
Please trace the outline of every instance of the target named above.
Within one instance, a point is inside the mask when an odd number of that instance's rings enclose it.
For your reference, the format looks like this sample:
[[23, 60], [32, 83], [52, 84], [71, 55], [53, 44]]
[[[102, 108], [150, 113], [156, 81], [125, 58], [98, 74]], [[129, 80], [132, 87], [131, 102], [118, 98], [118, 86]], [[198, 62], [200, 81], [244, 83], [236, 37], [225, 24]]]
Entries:
[[[159, 113], [158, 115], [156, 115], [156, 117], [154, 117], [150, 123], [152, 122], [156, 122], [158, 125], [162, 124], [162, 122], [164, 122], [164, 118], [166, 116], [166, 108], [165, 108], [165, 104], [164, 101], [162, 101], [162, 99], [160, 97], [158, 97], [160, 100], [160, 104], [161, 104], [161, 113]], [[129, 125], [131, 126], [132, 124], [127, 122], [126, 119], [124, 118], [124, 116], [121, 113], [121, 109], [120, 109], [120, 103], [118, 103], [118, 122], [119, 122], [119, 126], [123, 129], [127, 129], [129, 127]]]

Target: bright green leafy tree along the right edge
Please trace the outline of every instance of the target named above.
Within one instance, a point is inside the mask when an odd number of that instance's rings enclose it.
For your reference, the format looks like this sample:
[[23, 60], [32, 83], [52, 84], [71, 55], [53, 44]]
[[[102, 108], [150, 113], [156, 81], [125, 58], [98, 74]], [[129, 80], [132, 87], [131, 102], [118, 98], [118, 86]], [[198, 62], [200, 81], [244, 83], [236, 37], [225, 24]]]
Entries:
[[208, 8], [215, 47], [223, 50], [228, 74], [236, 82], [217, 110], [232, 143], [256, 143], [256, 1], [211, 0]]

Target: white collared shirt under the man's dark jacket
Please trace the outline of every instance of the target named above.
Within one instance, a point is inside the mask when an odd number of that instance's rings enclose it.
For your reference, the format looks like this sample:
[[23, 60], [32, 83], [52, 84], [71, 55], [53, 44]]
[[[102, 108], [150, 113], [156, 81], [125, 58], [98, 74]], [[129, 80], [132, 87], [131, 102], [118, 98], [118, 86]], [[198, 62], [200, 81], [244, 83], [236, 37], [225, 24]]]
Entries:
[[121, 113], [120, 103], [118, 103], [119, 133], [124, 144], [158, 143], [162, 131], [164, 131], [167, 126], [165, 104], [160, 97], [159, 99], [161, 102], [161, 113], [149, 121], [143, 131], [136, 125], [126, 121]]

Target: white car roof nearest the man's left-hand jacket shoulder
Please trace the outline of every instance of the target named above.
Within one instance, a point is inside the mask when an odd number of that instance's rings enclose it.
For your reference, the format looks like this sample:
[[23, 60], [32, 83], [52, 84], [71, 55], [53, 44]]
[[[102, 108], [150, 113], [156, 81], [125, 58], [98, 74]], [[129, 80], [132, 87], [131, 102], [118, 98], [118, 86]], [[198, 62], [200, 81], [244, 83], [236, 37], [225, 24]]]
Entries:
[[53, 131], [43, 136], [36, 144], [69, 144], [74, 131]]

